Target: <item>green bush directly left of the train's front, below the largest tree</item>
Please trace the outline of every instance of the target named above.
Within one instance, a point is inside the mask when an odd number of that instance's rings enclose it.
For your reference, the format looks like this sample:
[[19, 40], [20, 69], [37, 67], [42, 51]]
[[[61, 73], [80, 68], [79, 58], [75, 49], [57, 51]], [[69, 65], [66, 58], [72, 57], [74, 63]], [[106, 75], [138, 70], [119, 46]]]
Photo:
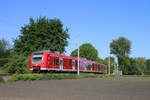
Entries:
[[9, 58], [4, 68], [6, 73], [27, 73], [29, 69], [29, 57], [14, 55]]

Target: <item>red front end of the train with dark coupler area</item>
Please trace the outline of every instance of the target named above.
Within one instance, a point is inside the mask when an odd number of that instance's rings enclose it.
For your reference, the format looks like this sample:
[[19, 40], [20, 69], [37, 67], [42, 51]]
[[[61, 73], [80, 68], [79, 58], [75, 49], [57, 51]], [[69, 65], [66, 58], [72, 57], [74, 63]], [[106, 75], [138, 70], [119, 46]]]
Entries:
[[33, 52], [30, 58], [30, 70], [33, 72], [40, 72], [47, 70], [44, 52]]

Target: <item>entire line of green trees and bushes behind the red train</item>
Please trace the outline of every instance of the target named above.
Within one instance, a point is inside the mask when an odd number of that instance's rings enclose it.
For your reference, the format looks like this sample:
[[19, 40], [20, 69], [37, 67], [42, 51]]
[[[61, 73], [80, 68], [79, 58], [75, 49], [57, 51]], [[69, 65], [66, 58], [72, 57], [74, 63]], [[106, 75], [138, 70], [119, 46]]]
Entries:
[[[29, 73], [32, 52], [51, 50], [63, 53], [68, 46], [69, 37], [68, 28], [64, 28], [60, 19], [30, 18], [29, 24], [21, 27], [20, 35], [14, 40], [13, 46], [5, 39], [0, 40], [0, 73]], [[125, 75], [150, 74], [150, 59], [130, 57], [131, 42], [125, 37], [119, 37], [110, 43], [110, 53], [117, 58], [115, 62], [115, 58], [110, 57], [111, 73], [118, 63], [119, 70]], [[77, 56], [77, 49], [72, 51], [71, 56]], [[90, 43], [80, 46], [80, 57], [108, 65], [108, 57], [99, 58], [98, 51]]]

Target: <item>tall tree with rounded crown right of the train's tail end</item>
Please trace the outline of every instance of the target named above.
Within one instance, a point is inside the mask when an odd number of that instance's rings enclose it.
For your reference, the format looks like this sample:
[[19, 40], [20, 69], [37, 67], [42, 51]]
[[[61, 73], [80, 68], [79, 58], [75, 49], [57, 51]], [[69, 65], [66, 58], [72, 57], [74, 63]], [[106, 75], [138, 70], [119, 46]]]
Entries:
[[131, 42], [125, 37], [120, 37], [110, 43], [110, 52], [118, 59], [119, 68], [125, 73], [125, 62], [130, 54]]

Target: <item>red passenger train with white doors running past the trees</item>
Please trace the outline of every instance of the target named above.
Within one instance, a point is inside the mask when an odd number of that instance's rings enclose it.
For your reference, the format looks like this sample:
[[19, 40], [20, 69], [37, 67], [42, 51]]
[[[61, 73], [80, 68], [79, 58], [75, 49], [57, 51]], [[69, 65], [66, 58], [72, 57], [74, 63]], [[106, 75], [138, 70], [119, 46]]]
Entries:
[[[79, 59], [80, 72], [106, 73], [104, 64], [96, 61]], [[77, 72], [78, 59], [76, 57], [65, 56], [51, 51], [33, 52], [30, 59], [30, 70], [40, 71], [62, 71]]]

